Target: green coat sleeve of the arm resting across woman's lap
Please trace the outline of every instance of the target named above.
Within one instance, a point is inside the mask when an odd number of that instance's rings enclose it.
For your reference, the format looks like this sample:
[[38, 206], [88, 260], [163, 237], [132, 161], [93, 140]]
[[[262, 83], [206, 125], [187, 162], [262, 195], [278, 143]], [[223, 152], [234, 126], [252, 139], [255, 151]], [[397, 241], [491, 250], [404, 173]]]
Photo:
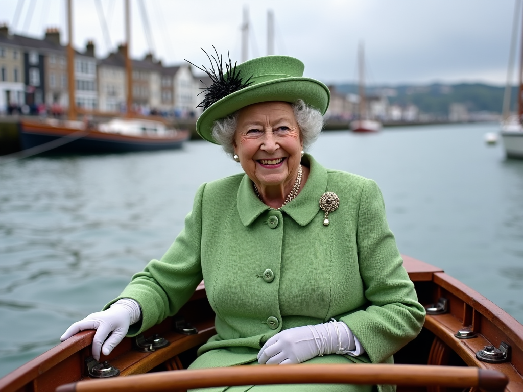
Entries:
[[371, 362], [379, 363], [417, 336], [425, 309], [403, 268], [383, 197], [373, 180], [367, 180], [361, 192], [356, 239], [368, 304], [340, 320], [353, 331]]

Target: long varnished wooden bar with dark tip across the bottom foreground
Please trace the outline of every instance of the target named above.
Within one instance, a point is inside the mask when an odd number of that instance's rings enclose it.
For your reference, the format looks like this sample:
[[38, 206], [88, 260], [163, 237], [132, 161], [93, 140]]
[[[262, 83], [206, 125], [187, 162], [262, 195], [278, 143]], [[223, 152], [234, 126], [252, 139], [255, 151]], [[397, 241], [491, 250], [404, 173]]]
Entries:
[[477, 367], [430, 365], [263, 365], [147, 373], [62, 385], [56, 392], [151, 392], [236, 385], [366, 384], [477, 387], [502, 391], [508, 377]]

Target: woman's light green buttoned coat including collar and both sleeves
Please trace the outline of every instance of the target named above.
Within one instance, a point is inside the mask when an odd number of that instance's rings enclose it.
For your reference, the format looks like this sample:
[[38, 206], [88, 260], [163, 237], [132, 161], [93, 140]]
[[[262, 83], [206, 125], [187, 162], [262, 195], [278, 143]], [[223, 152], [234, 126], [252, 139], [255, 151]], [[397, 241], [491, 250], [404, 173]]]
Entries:
[[[176, 314], [203, 278], [217, 335], [191, 368], [251, 363], [282, 329], [331, 318], [344, 321], [366, 353], [310, 362], [392, 363], [392, 354], [422, 328], [425, 311], [403, 268], [381, 192], [373, 180], [327, 170], [310, 155], [302, 163], [309, 178], [280, 210], [256, 197], [245, 174], [203, 184], [174, 244], [110, 303], [127, 297], [140, 304], [142, 322], [129, 336]], [[319, 200], [327, 191], [340, 203], [324, 226]]]

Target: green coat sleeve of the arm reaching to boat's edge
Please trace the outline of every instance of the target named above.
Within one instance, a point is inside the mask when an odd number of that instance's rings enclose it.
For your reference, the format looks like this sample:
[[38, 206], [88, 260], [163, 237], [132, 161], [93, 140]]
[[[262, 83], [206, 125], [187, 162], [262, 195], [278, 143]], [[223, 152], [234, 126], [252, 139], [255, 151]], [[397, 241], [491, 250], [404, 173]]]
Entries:
[[123, 292], [108, 303], [104, 310], [120, 298], [132, 298], [140, 304], [142, 320], [129, 328], [128, 336], [175, 315], [202, 281], [201, 204], [205, 184], [196, 192], [192, 211], [185, 226], [161, 260], [151, 260], [145, 269], [134, 274]]

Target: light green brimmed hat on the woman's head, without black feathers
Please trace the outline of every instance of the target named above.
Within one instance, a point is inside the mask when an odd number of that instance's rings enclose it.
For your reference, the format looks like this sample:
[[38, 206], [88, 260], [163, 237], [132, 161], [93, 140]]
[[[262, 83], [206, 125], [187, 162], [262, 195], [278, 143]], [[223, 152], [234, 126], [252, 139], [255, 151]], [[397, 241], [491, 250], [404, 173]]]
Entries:
[[236, 74], [240, 71], [242, 83], [250, 77], [249, 85], [218, 99], [205, 109], [196, 122], [196, 131], [203, 139], [218, 144], [212, 137], [214, 121], [258, 102], [292, 103], [303, 99], [325, 114], [331, 93], [319, 80], [303, 77], [304, 68], [300, 60], [289, 56], [258, 57], [237, 65]]

